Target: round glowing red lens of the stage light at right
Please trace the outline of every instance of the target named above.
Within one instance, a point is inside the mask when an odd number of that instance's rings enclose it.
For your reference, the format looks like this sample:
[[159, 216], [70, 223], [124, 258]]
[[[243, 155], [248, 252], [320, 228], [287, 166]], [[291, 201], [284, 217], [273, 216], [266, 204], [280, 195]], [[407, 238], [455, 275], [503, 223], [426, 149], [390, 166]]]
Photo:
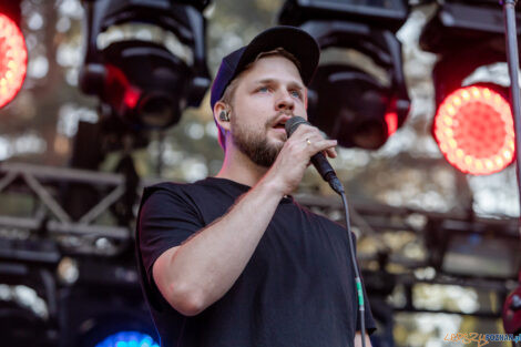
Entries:
[[510, 105], [486, 86], [467, 86], [448, 95], [435, 116], [433, 133], [445, 157], [464, 173], [487, 175], [514, 157]]

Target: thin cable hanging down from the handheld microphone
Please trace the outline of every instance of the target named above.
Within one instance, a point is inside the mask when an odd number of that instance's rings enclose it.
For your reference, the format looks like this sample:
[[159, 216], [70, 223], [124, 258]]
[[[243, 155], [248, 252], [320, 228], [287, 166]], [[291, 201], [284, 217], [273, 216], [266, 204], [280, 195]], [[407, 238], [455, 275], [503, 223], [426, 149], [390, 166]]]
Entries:
[[[336, 177], [335, 177], [336, 178]], [[344, 204], [344, 213], [346, 214], [346, 228], [347, 228], [347, 239], [349, 241], [349, 253], [351, 255], [353, 269], [355, 272], [355, 285], [356, 293], [358, 297], [358, 312], [360, 313], [360, 333], [361, 333], [361, 346], [366, 347], [366, 306], [364, 303], [364, 290], [361, 289], [361, 277], [360, 271], [358, 269], [358, 263], [355, 255], [355, 245], [353, 244], [351, 238], [351, 223], [349, 222], [349, 207], [347, 205], [346, 192], [339, 180], [335, 180], [335, 192], [341, 196], [341, 202]]]

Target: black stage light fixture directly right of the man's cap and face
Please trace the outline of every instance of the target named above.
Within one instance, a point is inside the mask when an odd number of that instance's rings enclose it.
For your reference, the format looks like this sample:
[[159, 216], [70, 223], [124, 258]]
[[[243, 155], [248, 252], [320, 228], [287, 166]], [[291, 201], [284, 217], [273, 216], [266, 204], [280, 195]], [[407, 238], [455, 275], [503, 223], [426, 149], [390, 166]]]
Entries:
[[285, 2], [280, 24], [306, 30], [324, 52], [358, 51], [386, 74], [382, 83], [344, 61], [319, 64], [309, 85], [309, 121], [341, 146], [377, 150], [403, 124], [410, 99], [395, 33], [408, 13], [402, 0]]

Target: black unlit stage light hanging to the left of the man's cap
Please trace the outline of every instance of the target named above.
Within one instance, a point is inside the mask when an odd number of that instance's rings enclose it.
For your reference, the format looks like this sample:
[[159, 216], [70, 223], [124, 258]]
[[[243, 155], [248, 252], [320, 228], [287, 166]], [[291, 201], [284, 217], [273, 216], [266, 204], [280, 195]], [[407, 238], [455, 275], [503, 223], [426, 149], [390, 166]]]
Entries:
[[[100, 98], [102, 116], [115, 115], [135, 131], [165, 129], [178, 122], [185, 108], [200, 105], [210, 85], [201, 12], [207, 3], [83, 1], [86, 28], [80, 86]], [[140, 24], [163, 39], [123, 37], [137, 32]], [[110, 38], [104, 45], [103, 37]]]

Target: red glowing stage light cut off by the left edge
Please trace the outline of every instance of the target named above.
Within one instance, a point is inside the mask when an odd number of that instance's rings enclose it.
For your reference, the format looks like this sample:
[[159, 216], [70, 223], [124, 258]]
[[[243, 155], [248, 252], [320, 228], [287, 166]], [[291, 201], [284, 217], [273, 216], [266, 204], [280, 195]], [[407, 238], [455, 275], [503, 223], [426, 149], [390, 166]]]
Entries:
[[18, 25], [0, 13], [0, 108], [20, 91], [27, 72], [25, 40]]

